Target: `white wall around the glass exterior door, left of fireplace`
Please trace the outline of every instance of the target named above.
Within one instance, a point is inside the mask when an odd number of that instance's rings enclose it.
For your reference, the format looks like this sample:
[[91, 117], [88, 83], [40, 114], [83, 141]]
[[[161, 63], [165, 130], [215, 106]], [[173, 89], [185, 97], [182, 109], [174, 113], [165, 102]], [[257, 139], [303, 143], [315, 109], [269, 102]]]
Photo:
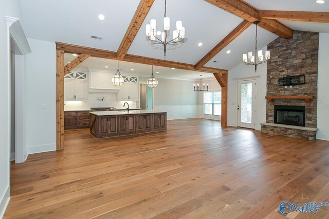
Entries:
[[[267, 50], [266, 47], [263, 50]], [[237, 79], [242, 78], [257, 78], [257, 121], [256, 130], [261, 130], [262, 122], [266, 121], [266, 75], [267, 64], [257, 66], [255, 72], [254, 66], [247, 66], [242, 61], [233, 69], [229, 70], [228, 74], [228, 125], [237, 126]]]

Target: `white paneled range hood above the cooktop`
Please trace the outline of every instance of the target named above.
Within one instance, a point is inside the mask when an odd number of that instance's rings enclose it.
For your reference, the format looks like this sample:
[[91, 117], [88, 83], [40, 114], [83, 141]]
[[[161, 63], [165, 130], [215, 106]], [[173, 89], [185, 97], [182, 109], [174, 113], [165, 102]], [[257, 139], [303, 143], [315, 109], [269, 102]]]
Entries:
[[114, 89], [119, 90], [120, 87], [112, 84], [114, 74], [108, 72], [90, 72], [90, 89]]

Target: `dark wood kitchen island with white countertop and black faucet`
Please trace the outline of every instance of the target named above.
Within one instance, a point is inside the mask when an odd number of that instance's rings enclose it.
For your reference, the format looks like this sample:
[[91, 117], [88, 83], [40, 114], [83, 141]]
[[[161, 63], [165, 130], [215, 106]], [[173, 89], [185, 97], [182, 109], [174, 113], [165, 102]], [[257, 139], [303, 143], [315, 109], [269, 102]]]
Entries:
[[90, 113], [90, 133], [96, 138], [167, 130], [167, 112], [154, 109]]

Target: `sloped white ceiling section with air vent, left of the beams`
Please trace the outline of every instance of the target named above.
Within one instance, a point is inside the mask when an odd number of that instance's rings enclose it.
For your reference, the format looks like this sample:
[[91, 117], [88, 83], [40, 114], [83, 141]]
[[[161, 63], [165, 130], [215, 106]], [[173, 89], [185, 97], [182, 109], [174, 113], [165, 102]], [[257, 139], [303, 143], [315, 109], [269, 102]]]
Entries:
[[[28, 38], [117, 51], [138, 4], [139, 0], [21, 0], [24, 31]], [[104, 21], [99, 14], [105, 15]]]

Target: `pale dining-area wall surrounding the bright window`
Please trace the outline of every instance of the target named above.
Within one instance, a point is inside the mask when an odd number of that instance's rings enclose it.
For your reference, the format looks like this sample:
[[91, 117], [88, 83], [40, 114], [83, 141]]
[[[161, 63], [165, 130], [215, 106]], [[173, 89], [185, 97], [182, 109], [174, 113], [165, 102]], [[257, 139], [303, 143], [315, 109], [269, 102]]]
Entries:
[[[203, 79], [202, 83], [209, 85], [210, 92], [218, 92], [221, 90], [221, 86], [215, 77]], [[194, 82], [195, 84], [200, 83], [200, 80]], [[197, 117], [203, 119], [212, 119], [212, 120], [221, 120], [221, 116], [212, 116], [212, 115], [205, 115], [204, 114], [204, 92], [197, 93]]]

